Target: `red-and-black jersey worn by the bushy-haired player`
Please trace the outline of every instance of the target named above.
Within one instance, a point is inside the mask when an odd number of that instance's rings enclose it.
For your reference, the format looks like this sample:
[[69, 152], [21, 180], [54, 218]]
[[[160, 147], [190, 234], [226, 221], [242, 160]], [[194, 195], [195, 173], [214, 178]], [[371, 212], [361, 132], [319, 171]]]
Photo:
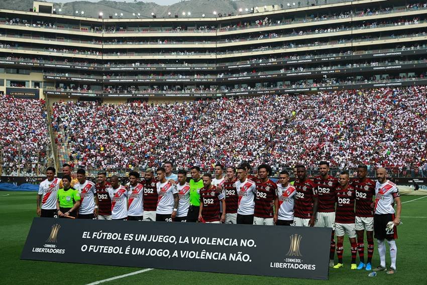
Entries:
[[256, 181], [256, 197], [254, 216], [258, 218], [273, 218], [274, 200], [277, 198], [277, 185], [271, 179], [265, 183]]

